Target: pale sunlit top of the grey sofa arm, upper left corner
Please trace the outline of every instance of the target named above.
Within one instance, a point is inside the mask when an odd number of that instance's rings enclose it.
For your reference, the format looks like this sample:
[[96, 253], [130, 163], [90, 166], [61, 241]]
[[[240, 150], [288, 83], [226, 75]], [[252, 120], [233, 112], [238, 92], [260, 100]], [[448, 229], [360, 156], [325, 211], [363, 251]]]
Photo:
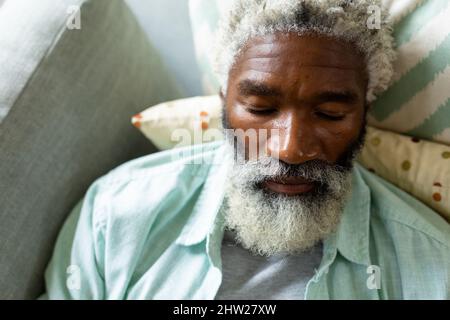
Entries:
[[[84, 0], [5, 1], [0, 7], [0, 123], [20, 96], [69, 20], [70, 6]], [[51, 8], [51, 15], [48, 14]], [[45, 17], [45, 19], [43, 19]]]

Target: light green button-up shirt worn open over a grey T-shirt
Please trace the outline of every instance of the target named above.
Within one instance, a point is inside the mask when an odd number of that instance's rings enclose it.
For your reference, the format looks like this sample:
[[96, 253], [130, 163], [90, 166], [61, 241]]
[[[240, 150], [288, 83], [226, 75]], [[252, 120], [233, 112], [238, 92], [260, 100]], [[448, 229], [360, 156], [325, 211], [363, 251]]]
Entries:
[[[214, 299], [224, 151], [218, 142], [164, 151], [98, 179], [61, 230], [44, 297]], [[449, 299], [446, 221], [358, 164], [352, 179], [305, 298]]]

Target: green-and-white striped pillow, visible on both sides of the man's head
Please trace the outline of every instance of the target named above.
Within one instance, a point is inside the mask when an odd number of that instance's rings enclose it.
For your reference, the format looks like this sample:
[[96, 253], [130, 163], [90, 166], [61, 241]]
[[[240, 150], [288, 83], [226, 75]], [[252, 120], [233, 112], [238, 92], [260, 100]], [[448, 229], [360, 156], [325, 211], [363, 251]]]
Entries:
[[[190, 0], [194, 41], [205, 92], [218, 92], [211, 46], [232, 1]], [[369, 124], [450, 145], [450, 2], [383, 0], [397, 44], [390, 88], [374, 103]]]

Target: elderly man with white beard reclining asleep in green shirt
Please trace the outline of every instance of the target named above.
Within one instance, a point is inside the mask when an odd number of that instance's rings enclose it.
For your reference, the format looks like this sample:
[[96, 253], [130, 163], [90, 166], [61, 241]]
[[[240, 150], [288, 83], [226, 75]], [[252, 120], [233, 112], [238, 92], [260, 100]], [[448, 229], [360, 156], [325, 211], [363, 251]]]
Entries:
[[450, 298], [449, 226], [354, 163], [392, 75], [373, 4], [236, 1], [218, 45], [226, 141], [96, 181], [61, 231], [47, 296]]

